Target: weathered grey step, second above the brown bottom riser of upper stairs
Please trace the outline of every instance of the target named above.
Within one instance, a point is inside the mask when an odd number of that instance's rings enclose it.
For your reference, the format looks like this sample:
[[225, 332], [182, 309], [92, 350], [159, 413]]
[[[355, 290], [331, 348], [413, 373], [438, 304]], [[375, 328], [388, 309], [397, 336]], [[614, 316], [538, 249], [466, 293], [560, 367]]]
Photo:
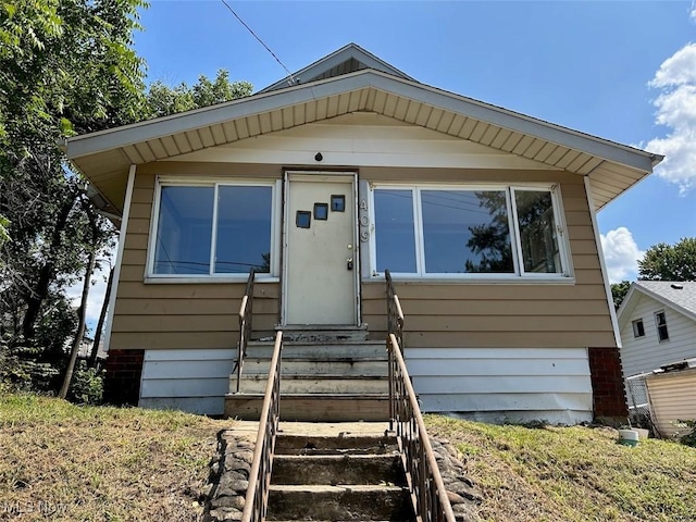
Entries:
[[[269, 375], [271, 361], [257, 357], [247, 357], [244, 361], [243, 373], [245, 375]], [[321, 375], [340, 374], [350, 376], [378, 375], [387, 376], [389, 366], [385, 360], [371, 357], [353, 358], [289, 358], [283, 357], [281, 362], [283, 377], [286, 375]], [[235, 375], [235, 374], [233, 374]]]

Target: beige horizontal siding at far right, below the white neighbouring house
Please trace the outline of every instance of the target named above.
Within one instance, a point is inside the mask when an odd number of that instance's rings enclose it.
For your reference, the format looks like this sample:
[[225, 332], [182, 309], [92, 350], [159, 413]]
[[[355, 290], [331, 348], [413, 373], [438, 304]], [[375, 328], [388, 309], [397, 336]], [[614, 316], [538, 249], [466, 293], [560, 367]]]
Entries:
[[646, 378], [652, 420], [663, 437], [685, 435], [691, 428], [676, 427], [679, 420], [696, 419], [696, 369], [649, 375]]

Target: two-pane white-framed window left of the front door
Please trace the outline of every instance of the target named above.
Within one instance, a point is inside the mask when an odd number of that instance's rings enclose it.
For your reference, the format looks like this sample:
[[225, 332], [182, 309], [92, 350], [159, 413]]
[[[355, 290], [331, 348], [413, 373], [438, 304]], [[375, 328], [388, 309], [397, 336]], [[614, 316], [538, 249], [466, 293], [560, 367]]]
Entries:
[[274, 185], [161, 183], [150, 275], [271, 272]]

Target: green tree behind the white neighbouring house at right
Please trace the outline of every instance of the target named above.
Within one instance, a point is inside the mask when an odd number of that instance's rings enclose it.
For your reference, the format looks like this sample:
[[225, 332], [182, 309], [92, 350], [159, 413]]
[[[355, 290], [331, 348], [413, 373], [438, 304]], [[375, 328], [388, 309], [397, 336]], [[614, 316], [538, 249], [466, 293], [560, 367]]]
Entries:
[[638, 260], [638, 279], [696, 281], [696, 237], [683, 237], [675, 245], [659, 243]]

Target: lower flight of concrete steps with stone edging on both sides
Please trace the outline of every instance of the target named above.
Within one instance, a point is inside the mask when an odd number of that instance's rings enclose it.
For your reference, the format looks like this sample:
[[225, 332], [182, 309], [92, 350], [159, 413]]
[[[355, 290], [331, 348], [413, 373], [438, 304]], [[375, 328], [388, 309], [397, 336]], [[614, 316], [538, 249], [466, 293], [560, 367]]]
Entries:
[[[219, 435], [206, 522], [241, 520], [258, 424], [236, 422]], [[266, 520], [412, 521], [400, 456], [386, 423], [282, 422]], [[477, 521], [481, 497], [456, 450], [432, 440], [452, 509]]]

